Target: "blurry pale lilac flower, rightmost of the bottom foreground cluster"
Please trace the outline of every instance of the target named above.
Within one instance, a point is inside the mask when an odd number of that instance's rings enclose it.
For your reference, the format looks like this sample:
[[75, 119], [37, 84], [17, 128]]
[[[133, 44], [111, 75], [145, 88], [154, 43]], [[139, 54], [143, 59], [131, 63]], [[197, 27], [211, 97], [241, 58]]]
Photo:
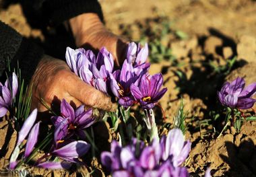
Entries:
[[175, 167], [185, 162], [191, 150], [191, 142], [185, 141], [180, 129], [172, 129], [167, 137], [163, 136], [160, 140], [160, 146], [162, 148], [162, 160], [170, 159]]

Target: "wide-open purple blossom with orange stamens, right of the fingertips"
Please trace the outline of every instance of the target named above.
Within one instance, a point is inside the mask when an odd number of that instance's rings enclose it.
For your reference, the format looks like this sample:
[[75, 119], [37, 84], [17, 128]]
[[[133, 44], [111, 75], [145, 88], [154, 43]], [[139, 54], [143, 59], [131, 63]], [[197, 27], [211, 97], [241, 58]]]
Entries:
[[133, 94], [135, 100], [139, 102], [142, 108], [152, 109], [167, 91], [167, 88], [160, 90], [162, 83], [163, 78], [160, 73], [152, 77], [143, 75], [138, 86], [131, 84], [131, 94]]

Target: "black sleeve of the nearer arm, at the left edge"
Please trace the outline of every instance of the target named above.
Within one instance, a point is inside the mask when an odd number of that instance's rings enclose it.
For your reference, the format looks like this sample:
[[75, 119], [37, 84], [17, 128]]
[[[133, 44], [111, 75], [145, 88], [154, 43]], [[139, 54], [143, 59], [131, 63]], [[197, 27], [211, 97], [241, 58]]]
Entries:
[[17, 71], [18, 67], [21, 69], [22, 77], [28, 83], [44, 55], [44, 50], [1, 21], [0, 41], [0, 75], [5, 74], [9, 63], [11, 71]]

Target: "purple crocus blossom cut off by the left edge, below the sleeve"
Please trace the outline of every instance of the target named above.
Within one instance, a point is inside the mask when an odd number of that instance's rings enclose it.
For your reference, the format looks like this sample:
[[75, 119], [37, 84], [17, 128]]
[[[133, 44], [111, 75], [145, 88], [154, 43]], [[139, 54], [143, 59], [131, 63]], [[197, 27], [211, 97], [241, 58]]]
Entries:
[[0, 117], [5, 116], [11, 106], [12, 100], [18, 91], [18, 78], [15, 73], [5, 81], [5, 85], [0, 83]]

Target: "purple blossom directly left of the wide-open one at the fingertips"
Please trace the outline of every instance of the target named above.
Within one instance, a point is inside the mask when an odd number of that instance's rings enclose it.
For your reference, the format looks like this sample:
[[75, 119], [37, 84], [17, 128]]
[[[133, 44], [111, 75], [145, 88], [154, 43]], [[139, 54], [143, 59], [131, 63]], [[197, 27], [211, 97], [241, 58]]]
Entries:
[[135, 102], [131, 95], [130, 85], [134, 83], [137, 85], [139, 76], [135, 74], [131, 63], [124, 61], [123, 67], [120, 70], [110, 73], [110, 87], [113, 94], [119, 98], [119, 104], [124, 107], [132, 106]]

